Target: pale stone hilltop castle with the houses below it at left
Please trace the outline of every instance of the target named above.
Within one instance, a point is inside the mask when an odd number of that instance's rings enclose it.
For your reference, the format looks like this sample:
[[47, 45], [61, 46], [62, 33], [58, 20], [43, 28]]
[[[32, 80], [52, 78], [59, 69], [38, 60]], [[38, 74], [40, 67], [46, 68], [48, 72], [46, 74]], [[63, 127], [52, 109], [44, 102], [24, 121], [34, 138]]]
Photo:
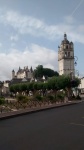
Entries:
[[9, 86], [11, 84], [23, 83], [23, 82], [31, 82], [33, 81], [33, 69], [32, 67], [29, 69], [28, 66], [21, 69], [19, 67], [18, 71], [15, 72], [12, 70], [12, 79], [7, 80], [0, 83], [0, 94], [8, 94]]

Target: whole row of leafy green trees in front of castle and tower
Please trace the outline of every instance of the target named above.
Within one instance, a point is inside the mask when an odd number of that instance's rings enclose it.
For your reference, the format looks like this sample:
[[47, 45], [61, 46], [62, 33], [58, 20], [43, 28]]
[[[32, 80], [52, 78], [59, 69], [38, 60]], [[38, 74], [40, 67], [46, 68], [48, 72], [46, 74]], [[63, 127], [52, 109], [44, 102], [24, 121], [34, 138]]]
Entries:
[[61, 76], [54, 76], [50, 78], [46, 83], [43, 82], [31, 82], [31, 83], [18, 83], [10, 86], [10, 92], [17, 92], [21, 93], [22, 91], [31, 90], [34, 93], [37, 90], [42, 90], [43, 95], [45, 94], [46, 89], [53, 90], [56, 96], [56, 92], [60, 89], [64, 89], [66, 93], [68, 93], [68, 97], [70, 97], [72, 87], [78, 87], [80, 84], [80, 80], [78, 78], [74, 78], [71, 80], [70, 76], [68, 75], [61, 75]]

